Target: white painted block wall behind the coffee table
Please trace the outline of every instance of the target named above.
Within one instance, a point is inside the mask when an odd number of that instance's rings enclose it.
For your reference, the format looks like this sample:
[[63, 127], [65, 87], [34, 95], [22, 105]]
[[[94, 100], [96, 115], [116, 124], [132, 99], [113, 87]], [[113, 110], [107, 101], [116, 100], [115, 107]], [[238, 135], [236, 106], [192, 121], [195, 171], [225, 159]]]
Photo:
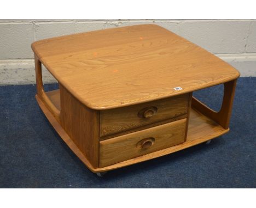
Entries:
[[[256, 76], [256, 20], [0, 20], [0, 84], [34, 83], [31, 43], [59, 35], [155, 23]], [[46, 70], [45, 83], [54, 82]]]

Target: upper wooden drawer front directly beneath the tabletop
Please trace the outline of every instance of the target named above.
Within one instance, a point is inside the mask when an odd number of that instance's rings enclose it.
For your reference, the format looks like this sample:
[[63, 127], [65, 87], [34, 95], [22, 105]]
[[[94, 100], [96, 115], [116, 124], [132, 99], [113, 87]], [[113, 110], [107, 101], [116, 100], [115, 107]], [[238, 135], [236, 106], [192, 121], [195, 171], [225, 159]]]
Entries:
[[100, 112], [100, 136], [187, 114], [189, 94]]

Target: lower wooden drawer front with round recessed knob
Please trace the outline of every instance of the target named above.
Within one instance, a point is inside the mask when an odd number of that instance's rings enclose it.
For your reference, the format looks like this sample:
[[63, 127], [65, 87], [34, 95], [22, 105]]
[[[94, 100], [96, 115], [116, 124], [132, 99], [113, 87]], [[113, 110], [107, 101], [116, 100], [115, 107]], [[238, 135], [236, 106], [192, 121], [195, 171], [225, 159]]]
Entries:
[[185, 140], [187, 119], [132, 132], [100, 142], [100, 167], [129, 160], [181, 144]]

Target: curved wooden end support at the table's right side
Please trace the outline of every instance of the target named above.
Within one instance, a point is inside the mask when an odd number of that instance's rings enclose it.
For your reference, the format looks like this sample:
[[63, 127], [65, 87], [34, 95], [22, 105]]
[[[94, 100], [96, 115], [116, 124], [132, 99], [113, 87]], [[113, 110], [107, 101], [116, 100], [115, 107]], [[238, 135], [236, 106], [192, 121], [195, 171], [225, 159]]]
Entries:
[[212, 120], [216, 121], [218, 124], [223, 126], [224, 129], [229, 128], [229, 121], [232, 112], [232, 105], [235, 96], [236, 88], [236, 79], [230, 82], [224, 83], [224, 95], [222, 101], [222, 107], [219, 112], [213, 111], [211, 108], [208, 108], [202, 102], [197, 100], [195, 97], [192, 99], [193, 108], [202, 112], [207, 117], [210, 117]]

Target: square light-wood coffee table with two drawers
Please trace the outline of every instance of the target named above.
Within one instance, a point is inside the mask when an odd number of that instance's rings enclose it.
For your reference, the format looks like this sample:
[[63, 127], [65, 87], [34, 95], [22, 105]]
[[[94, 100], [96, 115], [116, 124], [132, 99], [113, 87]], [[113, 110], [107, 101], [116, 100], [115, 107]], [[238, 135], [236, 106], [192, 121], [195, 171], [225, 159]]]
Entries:
[[[160, 26], [66, 35], [36, 41], [32, 49], [37, 102], [92, 172], [164, 156], [229, 131], [239, 72]], [[59, 90], [44, 91], [42, 64]], [[222, 83], [219, 112], [192, 96]]]

